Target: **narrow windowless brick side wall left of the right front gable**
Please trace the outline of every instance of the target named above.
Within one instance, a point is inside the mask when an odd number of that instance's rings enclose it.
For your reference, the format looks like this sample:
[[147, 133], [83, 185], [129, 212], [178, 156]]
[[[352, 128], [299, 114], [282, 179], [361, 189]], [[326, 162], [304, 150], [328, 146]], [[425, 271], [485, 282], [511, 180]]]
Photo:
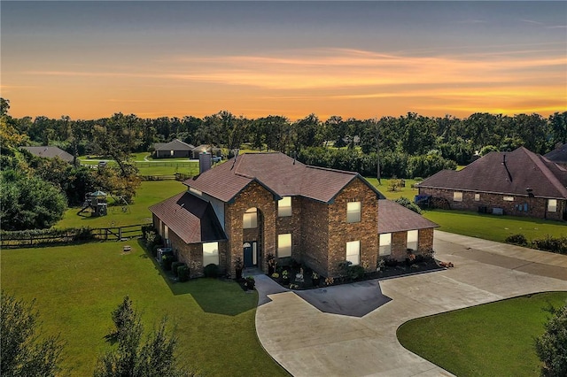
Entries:
[[327, 204], [300, 198], [302, 262], [329, 276], [329, 208]]

